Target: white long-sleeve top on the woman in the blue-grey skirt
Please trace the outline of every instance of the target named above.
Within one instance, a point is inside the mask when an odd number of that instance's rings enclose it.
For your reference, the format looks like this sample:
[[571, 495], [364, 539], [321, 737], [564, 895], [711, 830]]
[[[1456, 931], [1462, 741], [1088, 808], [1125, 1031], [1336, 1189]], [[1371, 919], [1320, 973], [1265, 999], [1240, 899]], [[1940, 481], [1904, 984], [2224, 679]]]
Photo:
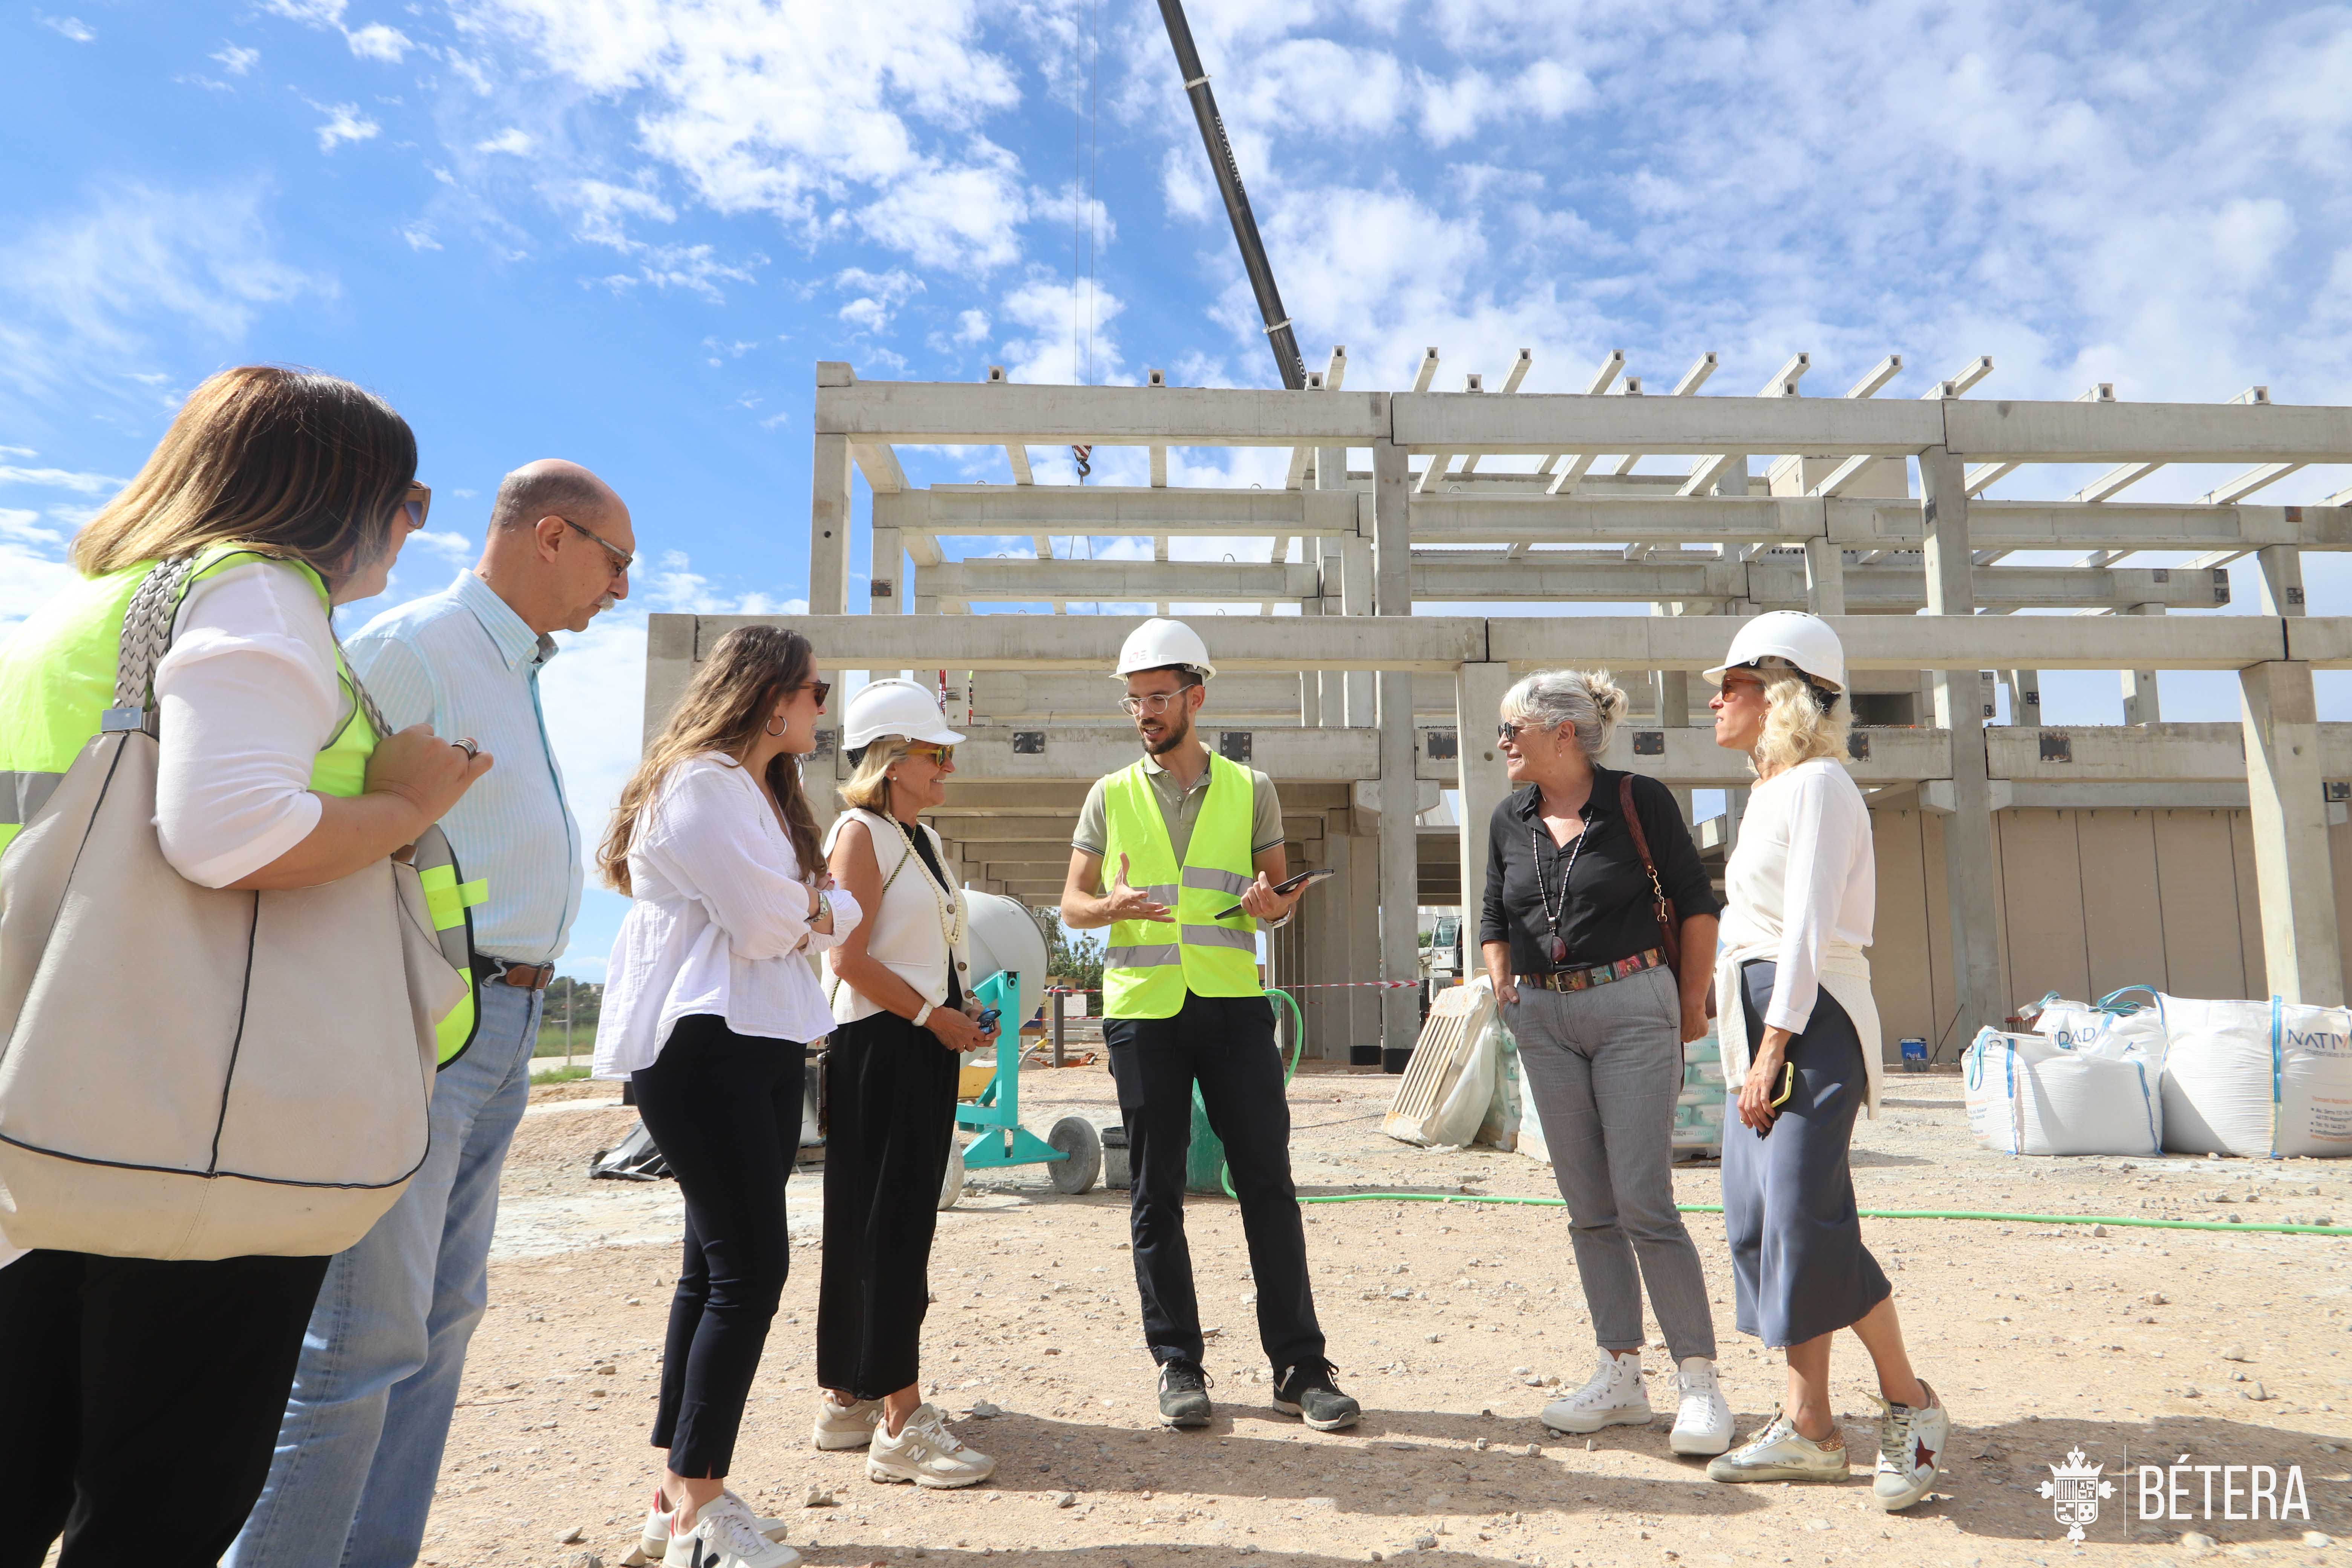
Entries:
[[1867, 1110], [1879, 1103], [1879, 1013], [1870, 997], [1870, 945], [1879, 870], [1870, 806], [1830, 757], [1799, 762], [1748, 795], [1740, 839], [1724, 865], [1722, 959], [1717, 966], [1724, 1081], [1748, 1077], [1748, 1023], [1738, 969], [1773, 961], [1764, 1025], [1804, 1034], [1823, 987], [1846, 1009], [1863, 1041]]

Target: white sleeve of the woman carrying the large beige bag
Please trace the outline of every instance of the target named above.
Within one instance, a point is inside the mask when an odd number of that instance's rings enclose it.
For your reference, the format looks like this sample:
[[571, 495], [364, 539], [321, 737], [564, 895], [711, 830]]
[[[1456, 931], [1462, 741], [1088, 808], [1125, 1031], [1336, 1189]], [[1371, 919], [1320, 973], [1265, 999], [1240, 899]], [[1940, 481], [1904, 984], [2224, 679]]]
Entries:
[[310, 769], [350, 696], [301, 567], [252, 562], [191, 588], [155, 665], [155, 832], [172, 870], [228, 886], [318, 827]]

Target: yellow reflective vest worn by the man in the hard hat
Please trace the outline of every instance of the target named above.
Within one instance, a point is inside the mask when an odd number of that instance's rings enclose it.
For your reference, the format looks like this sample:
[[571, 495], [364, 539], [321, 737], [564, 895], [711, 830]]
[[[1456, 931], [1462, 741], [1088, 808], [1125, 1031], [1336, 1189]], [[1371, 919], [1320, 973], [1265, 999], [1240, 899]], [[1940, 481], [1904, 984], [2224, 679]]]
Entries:
[[1127, 884], [1152, 903], [1174, 905], [1176, 914], [1174, 922], [1112, 922], [1103, 950], [1105, 1018], [1174, 1018], [1185, 992], [1261, 994], [1258, 922], [1249, 914], [1221, 919], [1256, 882], [1251, 795], [1249, 769], [1209, 752], [1207, 795], [1178, 867], [1143, 764], [1120, 769], [1103, 785], [1103, 863], [1115, 872], [1127, 856]]

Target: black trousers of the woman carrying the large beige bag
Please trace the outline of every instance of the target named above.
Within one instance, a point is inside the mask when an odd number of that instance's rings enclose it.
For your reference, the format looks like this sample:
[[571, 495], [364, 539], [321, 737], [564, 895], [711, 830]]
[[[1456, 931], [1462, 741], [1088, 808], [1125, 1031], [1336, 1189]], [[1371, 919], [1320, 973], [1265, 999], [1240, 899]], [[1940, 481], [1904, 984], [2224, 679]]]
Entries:
[[212, 1568], [270, 1474], [327, 1258], [0, 1269], [0, 1568]]

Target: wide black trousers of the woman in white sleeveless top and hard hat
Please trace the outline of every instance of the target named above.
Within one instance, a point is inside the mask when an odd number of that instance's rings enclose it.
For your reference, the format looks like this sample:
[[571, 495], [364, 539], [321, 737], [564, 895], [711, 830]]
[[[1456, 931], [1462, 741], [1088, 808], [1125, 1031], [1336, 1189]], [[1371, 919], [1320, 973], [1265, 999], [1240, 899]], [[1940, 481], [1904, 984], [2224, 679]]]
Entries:
[[922, 1375], [931, 1234], [955, 1140], [955, 1051], [896, 1013], [826, 1051], [826, 1267], [816, 1380], [856, 1399]]

